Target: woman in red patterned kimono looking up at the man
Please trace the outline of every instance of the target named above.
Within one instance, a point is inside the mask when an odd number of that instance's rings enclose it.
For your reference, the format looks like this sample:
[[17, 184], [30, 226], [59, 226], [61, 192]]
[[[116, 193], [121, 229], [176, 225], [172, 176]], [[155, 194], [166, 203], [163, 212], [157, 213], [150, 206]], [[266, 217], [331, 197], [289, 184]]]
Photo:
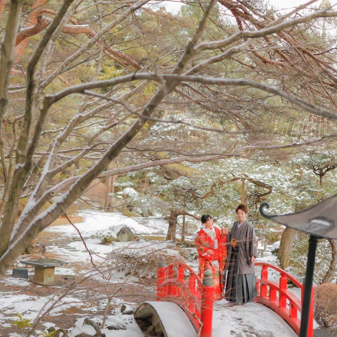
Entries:
[[201, 217], [201, 224], [203, 228], [200, 229], [195, 240], [196, 250], [199, 254], [198, 275], [203, 279], [205, 269], [211, 270], [214, 286], [214, 300], [220, 300], [222, 298], [222, 284], [220, 277], [226, 264], [226, 235], [228, 234], [228, 230], [222, 228], [220, 231], [219, 228], [213, 226], [213, 218], [208, 214], [204, 214]]

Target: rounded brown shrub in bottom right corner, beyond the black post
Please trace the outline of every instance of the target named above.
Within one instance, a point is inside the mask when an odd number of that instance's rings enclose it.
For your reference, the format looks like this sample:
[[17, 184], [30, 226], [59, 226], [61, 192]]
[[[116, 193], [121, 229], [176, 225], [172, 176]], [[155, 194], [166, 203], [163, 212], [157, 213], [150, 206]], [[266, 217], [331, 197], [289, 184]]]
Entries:
[[323, 283], [315, 289], [315, 319], [337, 335], [337, 284]]

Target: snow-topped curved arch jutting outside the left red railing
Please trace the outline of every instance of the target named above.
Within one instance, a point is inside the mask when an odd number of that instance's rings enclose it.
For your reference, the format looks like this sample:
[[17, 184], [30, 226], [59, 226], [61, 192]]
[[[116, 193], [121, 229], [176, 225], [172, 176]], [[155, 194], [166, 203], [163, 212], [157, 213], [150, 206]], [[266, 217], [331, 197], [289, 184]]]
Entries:
[[[136, 320], [148, 324], [148, 332], [156, 336], [196, 336], [196, 331], [178, 304], [167, 301], [143, 302], [134, 313]], [[139, 322], [137, 322], [139, 324]]]

